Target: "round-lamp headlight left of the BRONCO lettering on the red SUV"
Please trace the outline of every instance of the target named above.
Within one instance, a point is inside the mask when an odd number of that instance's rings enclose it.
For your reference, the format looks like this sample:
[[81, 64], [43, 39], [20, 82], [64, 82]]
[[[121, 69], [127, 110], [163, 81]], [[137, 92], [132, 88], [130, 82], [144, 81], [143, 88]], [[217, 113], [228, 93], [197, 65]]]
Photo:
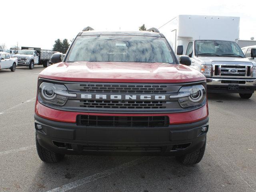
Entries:
[[66, 86], [42, 82], [39, 86], [39, 95], [46, 103], [63, 106], [68, 98], [76, 98], [76, 94], [69, 94]]

